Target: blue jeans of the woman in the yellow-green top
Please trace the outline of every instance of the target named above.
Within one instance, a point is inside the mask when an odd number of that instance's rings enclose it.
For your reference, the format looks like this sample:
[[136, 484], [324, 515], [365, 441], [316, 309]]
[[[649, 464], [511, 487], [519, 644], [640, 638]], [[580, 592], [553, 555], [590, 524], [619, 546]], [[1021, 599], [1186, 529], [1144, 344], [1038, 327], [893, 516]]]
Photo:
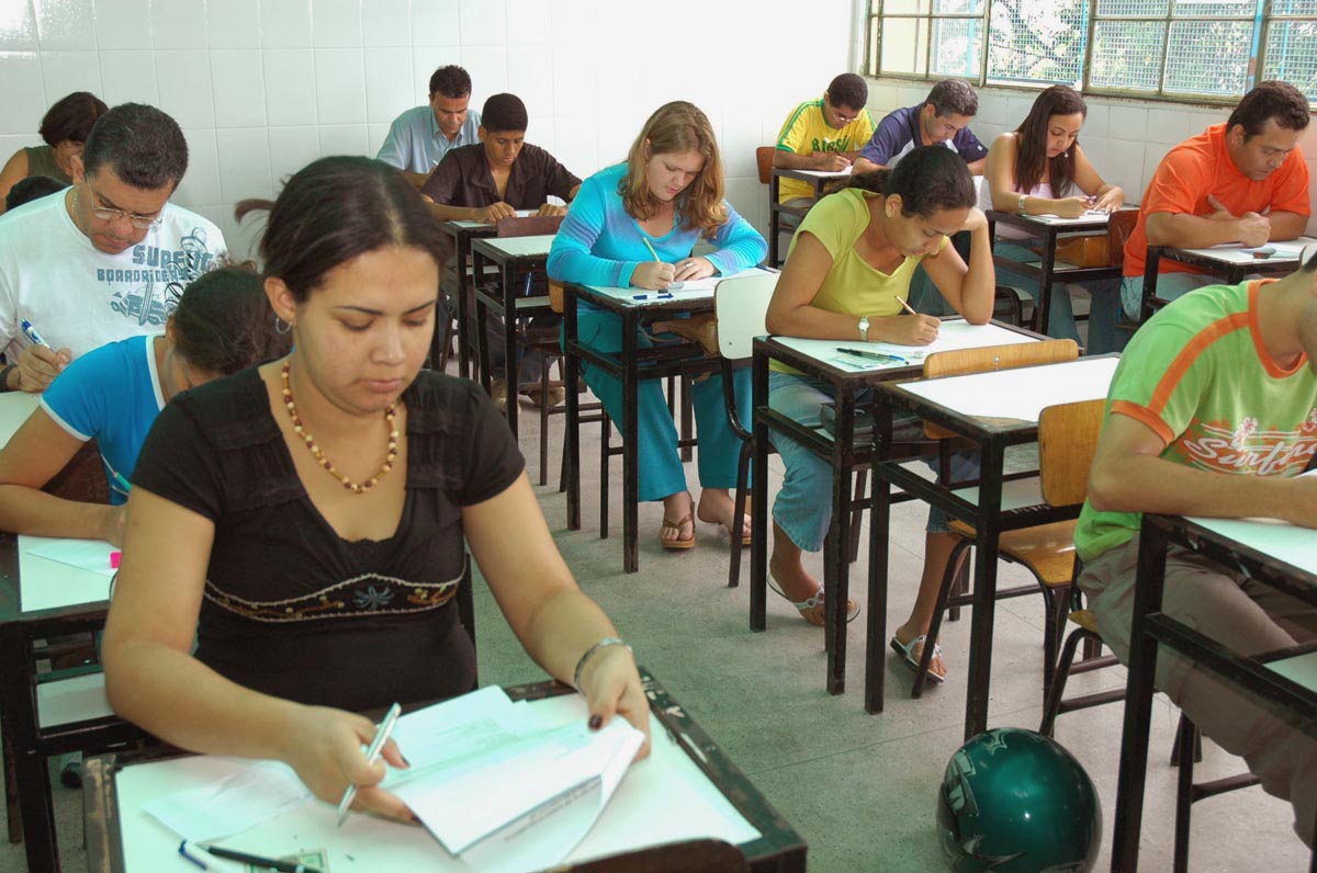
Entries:
[[[769, 407], [801, 424], [818, 425], [819, 406], [834, 399], [832, 384], [822, 379], [794, 373], [768, 374]], [[893, 424], [893, 436], [898, 440], [922, 433], [922, 425], [914, 416], [898, 417]], [[773, 435], [773, 446], [786, 467], [782, 490], [773, 502], [773, 521], [792, 537], [792, 542], [806, 552], [818, 552], [832, 521], [832, 465], [781, 433]], [[927, 463], [938, 471], [936, 458]], [[951, 456], [951, 478], [955, 482], [979, 478], [976, 453]], [[946, 512], [928, 507], [928, 533], [946, 533], [948, 529]]]

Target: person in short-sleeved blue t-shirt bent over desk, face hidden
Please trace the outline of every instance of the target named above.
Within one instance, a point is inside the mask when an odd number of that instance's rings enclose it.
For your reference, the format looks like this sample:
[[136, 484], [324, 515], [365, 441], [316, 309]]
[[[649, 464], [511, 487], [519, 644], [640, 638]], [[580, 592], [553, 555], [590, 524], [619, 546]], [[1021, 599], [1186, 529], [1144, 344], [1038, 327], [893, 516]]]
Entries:
[[[94, 349], [46, 388], [41, 406], [0, 449], [0, 529], [122, 544], [128, 483], [165, 404], [287, 350], [288, 337], [275, 332], [255, 273], [237, 266], [207, 273], [178, 298], [163, 333]], [[109, 503], [43, 492], [88, 440], [100, 450]]]

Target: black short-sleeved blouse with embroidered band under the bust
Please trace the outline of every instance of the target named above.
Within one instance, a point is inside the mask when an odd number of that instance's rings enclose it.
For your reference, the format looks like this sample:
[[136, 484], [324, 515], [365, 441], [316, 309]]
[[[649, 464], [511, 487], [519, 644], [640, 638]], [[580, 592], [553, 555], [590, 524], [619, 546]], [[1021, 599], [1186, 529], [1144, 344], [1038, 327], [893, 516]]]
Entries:
[[133, 485], [215, 523], [198, 660], [257, 691], [354, 711], [474, 686], [453, 603], [461, 508], [525, 462], [478, 386], [423, 371], [402, 399], [407, 496], [378, 541], [341, 539], [311, 503], [254, 369], [165, 407]]

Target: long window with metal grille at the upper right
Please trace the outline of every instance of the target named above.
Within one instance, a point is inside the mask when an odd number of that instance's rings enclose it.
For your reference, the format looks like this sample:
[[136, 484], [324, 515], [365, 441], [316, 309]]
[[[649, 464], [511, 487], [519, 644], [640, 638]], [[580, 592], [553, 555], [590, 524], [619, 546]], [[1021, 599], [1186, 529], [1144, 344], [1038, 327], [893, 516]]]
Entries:
[[1234, 103], [1317, 103], [1317, 0], [869, 0], [867, 71]]

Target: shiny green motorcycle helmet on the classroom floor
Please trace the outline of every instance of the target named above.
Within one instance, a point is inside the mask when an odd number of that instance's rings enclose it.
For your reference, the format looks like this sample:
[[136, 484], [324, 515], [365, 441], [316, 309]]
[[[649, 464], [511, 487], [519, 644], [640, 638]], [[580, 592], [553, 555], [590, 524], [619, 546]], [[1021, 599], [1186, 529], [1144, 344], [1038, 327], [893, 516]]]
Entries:
[[954, 873], [1087, 873], [1102, 841], [1102, 805], [1059, 743], [996, 728], [951, 756], [938, 837]]

